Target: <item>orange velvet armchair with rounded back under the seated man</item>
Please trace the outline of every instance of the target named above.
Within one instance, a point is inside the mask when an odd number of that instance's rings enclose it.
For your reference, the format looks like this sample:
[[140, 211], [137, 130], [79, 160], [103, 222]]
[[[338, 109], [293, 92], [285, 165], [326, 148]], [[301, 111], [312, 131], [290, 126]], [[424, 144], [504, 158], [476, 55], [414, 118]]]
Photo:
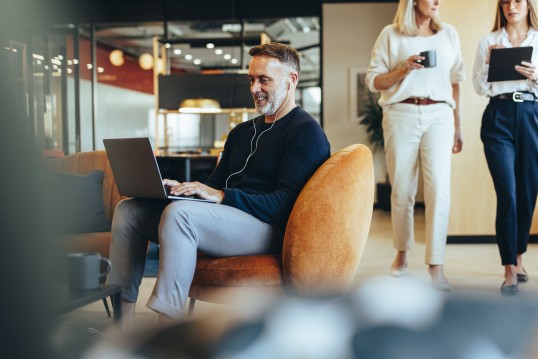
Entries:
[[366, 245], [373, 201], [368, 147], [355, 144], [334, 153], [299, 194], [282, 254], [199, 256], [189, 310], [196, 300], [234, 303], [245, 295], [282, 293], [284, 287], [304, 294], [345, 292]]

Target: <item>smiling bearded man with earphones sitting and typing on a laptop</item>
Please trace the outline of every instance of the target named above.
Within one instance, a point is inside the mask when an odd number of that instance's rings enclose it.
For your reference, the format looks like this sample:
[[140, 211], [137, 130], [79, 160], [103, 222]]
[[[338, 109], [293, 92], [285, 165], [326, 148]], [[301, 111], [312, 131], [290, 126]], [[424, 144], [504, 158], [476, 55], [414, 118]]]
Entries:
[[280, 252], [297, 196], [330, 156], [320, 125], [295, 103], [297, 51], [270, 43], [249, 54], [250, 91], [261, 116], [229, 133], [205, 183], [163, 180], [171, 194], [216, 204], [134, 198], [116, 207], [108, 282], [122, 287], [125, 325], [134, 319], [148, 240], [159, 243], [161, 263], [147, 306], [163, 318], [180, 318], [197, 252], [215, 257]]

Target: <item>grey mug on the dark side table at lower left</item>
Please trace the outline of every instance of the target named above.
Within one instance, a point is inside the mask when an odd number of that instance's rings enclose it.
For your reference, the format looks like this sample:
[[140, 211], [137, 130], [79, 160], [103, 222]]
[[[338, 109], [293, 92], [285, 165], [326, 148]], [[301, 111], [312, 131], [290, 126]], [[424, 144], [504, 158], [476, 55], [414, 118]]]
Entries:
[[[101, 262], [107, 263], [104, 272], [101, 272]], [[69, 253], [67, 255], [69, 289], [97, 289], [99, 278], [110, 272], [111, 265], [107, 258], [101, 257], [97, 252]]]

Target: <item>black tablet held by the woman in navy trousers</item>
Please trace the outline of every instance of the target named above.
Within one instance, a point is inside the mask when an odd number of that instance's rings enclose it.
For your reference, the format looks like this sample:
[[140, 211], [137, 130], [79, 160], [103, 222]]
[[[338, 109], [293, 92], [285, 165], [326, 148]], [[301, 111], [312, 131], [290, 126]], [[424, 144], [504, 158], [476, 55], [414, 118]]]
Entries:
[[532, 46], [492, 49], [489, 58], [488, 82], [526, 80], [514, 66], [521, 61], [531, 62]]

